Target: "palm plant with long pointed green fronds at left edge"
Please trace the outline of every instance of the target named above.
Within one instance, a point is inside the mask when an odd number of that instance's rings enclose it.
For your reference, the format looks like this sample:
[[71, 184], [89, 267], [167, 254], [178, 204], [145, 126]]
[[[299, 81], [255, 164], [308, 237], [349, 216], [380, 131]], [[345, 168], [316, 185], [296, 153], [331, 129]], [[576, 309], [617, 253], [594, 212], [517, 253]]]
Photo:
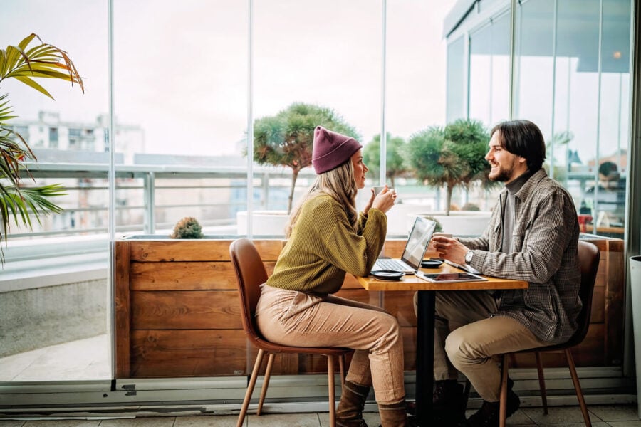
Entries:
[[[32, 44], [36, 38], [40, 43]], [[69, 81], [71, 85], [77, 83], [84, 93], [83, 79], [67, 53], [43, 43], [33, 33], [16, 46], [9, 45], [0, 50], [0, 83], [8, 78], [14, 78], [51, 99], [53, 96], [36, 79], [53, 78]], [[25, 179], [35, 181], [28, 170], [28, 162], [36, 162], [36, 155], [24, 137], [10, 127], [9, 120], [15, 117], [9, 104], [9, 94], [0, 95], [0, 239], [4, 238], [5, 243], [11, 217], [16, 225], [22, 223], [31, 228], [32, 217], [40, 223], [41, 216], [61, 212], [62, 208], [49, 199], [65, 194], [60, 184], [23, 185]], [[1, 246], [0, 260], [4, 261]]]

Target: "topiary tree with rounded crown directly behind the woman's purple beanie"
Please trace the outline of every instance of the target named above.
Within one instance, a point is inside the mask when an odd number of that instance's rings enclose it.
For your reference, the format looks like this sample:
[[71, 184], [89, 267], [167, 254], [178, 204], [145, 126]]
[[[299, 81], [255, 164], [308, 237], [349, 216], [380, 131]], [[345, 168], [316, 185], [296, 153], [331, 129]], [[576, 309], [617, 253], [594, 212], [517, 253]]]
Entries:
[[291, 168], [288, 213], [298, 173], [311, 165], [314, 129], [319, 125], [360, 139], [355, 128], [333, 110], [300, 102], [293, 103], [275, 116], [262, 117], [254, 122], [254, 161]]

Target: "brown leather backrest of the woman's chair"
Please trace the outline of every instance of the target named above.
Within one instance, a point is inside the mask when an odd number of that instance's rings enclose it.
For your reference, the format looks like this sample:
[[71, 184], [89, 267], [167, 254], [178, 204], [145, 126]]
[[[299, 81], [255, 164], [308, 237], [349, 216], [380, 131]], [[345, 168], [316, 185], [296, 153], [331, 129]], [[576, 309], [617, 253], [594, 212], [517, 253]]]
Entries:
[[261, 296], [260, 285], [267, 281], [267, 271], [256, 246], [249, 239], [239, 238], [231, 242], [229, 255], [231, 255], [231, 265], [234, 265], [236, 272], [243, 329], [256, 344], [261, 341], [261, 334], [256, 328], [254, 315], [256, 304]]

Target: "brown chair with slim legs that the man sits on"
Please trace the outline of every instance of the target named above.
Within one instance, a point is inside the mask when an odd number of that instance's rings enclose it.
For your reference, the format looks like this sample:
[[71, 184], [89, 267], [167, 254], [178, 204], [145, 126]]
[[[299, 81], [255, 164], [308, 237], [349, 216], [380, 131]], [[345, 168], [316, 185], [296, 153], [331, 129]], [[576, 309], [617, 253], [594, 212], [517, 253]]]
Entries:
[[566, 360], [568, 362], [568, 368], [570, 369], [570, 376], [572, 376], [572, 381], [574, 383], [574, 389], [576, 390], [576, 397], [579, 401], [579, 406], [581, 407], [581, 412], [583, 413], [583, 420], [585, 421], [585, 426], [591, 427], [590, 423], [590, 414], [588, 413], [588, 407], [585, 406], [585, 399], [583, 399], [583, 391], [581, 391], [581, 384], [579, 383], [578, 376], [576, 374], [576, 367], [574, 365], [574, 359], [570, 349], [580, 344], [585, 338], [585, 334], [588, 333], [588, 327], [590, 326], [590, 314], [592, 312], [592, 296], [594, 290], [594, 283], [596, 280], [597, 270], [599, 268], [599, 259], [600, 253], [599, 249], [593, 245], [593, 243], [579, 241], [578, 242], [578, 258], [579, 265], [581, 270], [581, 287], [579, 290], [579, 297], [581, 302], [583, 302], [583, 308], [579, 313], [577, 322], [578, 329], [574, 332], [573, 336], [568, 339], [567, 342], [563, 344], [551, 345], [548, 347], [539, 347], [537, 349], [522, 350], [521, 352], [506, 353], [503, 355], [503, 377], [501, 380], [501, 407], [500, 407], [500, 418], [499, 418], [499, 427], [505, 427], [505, 418], [506, 418], [506, 402], [507, 402], [507, 379], [508, 379], [508, 370], [509, 370], [509, 355], [517, 353], [531, 353], [533, 352], [536, 357], [536, 369], [538, 370], [538, 384], [541, 386], [541, 400], [543, 401], [543, 413], [548, 413], [548, 399], [546, 395], [546, 381], [543, 378], [543, 364], [541, 363], [541, 352], [556, 352], [563, 351], [566, 354]]

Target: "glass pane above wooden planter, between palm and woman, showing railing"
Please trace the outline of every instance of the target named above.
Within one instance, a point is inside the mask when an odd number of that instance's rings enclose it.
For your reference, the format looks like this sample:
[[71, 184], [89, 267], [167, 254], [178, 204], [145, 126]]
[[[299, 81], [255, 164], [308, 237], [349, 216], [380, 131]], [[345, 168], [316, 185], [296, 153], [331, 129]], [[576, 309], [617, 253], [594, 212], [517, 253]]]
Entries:
[[[236, 234], [246, 209], [247, 2], [114, 1], [118, 233], [184, 217]], [[167, 31], [172, 28], [172, 31]], [[105, 117], [106, 120], [106, 117]]]

